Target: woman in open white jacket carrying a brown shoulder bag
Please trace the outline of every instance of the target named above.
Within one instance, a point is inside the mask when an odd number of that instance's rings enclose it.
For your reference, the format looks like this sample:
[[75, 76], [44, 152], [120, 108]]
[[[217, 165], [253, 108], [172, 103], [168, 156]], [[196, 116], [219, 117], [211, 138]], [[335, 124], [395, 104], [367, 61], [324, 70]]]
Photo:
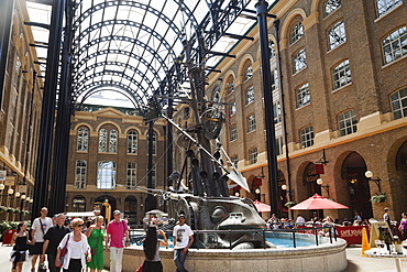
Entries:
[[90, 247], [86, 235], [81, 232], [84, 220], [75, 218], [72, 227], [74, 231], [67, 233], [58, 246], [55, 265], [63, 266], [64, 272], [80, 272], [90, 261]]

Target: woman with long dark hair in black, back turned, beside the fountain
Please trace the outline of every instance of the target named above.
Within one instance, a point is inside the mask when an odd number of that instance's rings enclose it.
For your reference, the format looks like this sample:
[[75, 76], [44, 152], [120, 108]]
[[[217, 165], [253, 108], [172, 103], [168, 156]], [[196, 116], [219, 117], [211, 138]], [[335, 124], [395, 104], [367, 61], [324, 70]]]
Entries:
[[[162, 236], [164, 240], [157, 239], [157, 235]], [[143, 263], [143, 272], [162, 272], [163, 264], [160, 260], [160, 246], [168, 247], [168, 240], [165, 232], [157, 230], [155, 226], [148, 227], [145, 239], [143, 240], [143, 250], [145, 260]]]

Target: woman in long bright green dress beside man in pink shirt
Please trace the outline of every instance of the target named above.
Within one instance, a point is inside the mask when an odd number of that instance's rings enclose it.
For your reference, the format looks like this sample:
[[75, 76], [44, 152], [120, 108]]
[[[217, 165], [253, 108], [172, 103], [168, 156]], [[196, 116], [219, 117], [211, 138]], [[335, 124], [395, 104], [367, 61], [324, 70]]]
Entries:
[[103, 217], [97, 216], [95, 225], [91, 225], [86, 232], [90, 246], [91, 260], [86, 264], [90, 272], [101, 272], [103, 270], [103, 241], [106, 242], [106, 232]]

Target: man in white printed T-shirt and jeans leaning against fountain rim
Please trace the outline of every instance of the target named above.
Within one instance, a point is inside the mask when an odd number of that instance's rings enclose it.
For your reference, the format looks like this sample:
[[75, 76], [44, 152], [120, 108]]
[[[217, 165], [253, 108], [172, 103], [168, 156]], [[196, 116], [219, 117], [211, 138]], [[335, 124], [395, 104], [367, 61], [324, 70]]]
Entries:
[[179, 224], [174, 227], [174, 261], [177, 266], [177, 272], [188, 272], [184, 268], [185, 259], [188, 254], [188, 249], [194, 242], [194, 232], [188, 225], [185, 224], [185, 215], [178, 215]]

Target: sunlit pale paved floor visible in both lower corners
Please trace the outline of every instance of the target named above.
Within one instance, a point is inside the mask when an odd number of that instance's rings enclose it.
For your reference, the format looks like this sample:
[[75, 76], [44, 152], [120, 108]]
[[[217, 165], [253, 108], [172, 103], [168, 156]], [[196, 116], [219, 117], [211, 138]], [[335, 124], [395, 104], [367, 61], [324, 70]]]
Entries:
[[[11, 271], [11, 262], [9, 262], [10, 252], [11, 252], [11, 247], [0, 246], [0, 272]], [[378, 259], [378, 258], [361, 257], [360, 247], [348, 247], [346, 257], [348, 257], [348, 269], [344, 272], [396, 272], [397, 271], [394, 259]], [[403, 266], [403, 272], [407, 272], [407, 258], [405, 258], [402, 261], [402, 266]], [[25, 262], [23, 264], [23, 272], [30, 272], [30, 269], [31, 269], [31, 263]], [[109, 272], [109, 270], [103, 270], [103, 272]]]

